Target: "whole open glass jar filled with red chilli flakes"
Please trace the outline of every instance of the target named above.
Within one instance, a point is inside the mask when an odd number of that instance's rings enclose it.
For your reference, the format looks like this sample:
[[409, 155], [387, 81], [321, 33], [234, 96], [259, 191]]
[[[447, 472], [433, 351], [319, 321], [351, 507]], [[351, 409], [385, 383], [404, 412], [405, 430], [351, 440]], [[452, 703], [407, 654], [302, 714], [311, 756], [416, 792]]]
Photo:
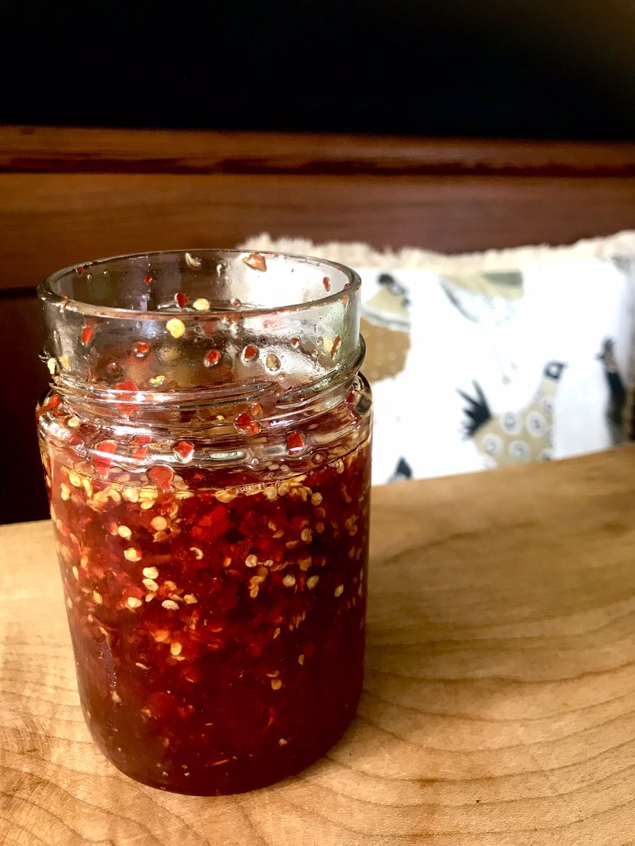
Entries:
[[298, 772], [362, 689], [359, 277], [203, 250], [67, 268], [39, 294], [38, 430], [93, 738], [182, 793]]

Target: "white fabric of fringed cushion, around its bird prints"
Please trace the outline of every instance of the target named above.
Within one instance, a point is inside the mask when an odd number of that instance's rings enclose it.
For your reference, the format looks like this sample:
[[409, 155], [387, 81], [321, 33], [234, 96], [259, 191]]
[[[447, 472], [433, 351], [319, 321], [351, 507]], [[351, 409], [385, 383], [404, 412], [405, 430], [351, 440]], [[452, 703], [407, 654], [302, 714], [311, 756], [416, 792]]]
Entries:
[[[373, 384], [374, 482], [389, 481], [400, 459], [406, 459], [416, 478], [501, 463], [501, 456], [483, 452], [479, 437], [484, 427], [472, 437], [461, 433], [468, 422], [467, 402], [458, 392], [474, 397], [473, 382], [486, 399], [491, 426], [506, 422], [505, 412], [516, 415], [522, 431], [514, 443], [525, 444], [516, 445], [519, 460], [547, 454], [561, 458], [616, 442], [616, 426], [607, 416], [609, 382], [598, 354], [605, 340], [612, 339], [617, 371], [632, 393], [633, 279], [632, 263], [624, 257], [635, 255], [635, 233], [571, 247], [462, 256], [421, 250], [378, 253], [363, 244], [317, 245], [268, 236], [250, 239], [245, 246], [319, 255], [352, 266], [362, 276], [365, 301], [377, 293], [380, 272], [406, 288], [413, 327], [406, 367], [395, 378]], [[511, 270], [522, 272], [522, 296], [506, 301], [476, 295], [473, 314], [457, 307], [444, 289], [449, 276]], [[557, 383], [543, 382], [551, 360], [566, 364]], [[555, 400], [553, 425], [550, 419], [545, 424], [553, 428], [553, 446], [546, 450], [538, 448], [526, 420], [527, 414], [535, 417], [535, 394], [544, 384]], [[503, 439], [507, 449], [505, 432]]]

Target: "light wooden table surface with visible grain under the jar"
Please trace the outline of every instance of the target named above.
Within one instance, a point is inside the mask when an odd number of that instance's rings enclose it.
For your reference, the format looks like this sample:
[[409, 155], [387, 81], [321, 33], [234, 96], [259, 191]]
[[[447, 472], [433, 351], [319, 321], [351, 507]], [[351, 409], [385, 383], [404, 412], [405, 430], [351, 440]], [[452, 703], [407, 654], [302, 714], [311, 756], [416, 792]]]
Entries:
[[345, 739], [229, 798], [136, 784], [80, 713], [46, 523], [0, 530], [5, 846], [635, 842], [635, 446], [379, 488]]

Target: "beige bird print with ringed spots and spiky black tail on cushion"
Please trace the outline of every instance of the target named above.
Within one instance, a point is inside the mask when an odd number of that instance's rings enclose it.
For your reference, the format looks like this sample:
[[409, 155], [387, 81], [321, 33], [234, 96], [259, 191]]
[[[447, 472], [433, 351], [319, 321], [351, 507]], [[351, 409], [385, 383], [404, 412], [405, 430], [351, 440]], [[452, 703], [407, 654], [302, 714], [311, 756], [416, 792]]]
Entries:
[[548, 461], [553, 457], [555, 395], [566, 365], [549, 361], [545, 365], [532, 401], [520, 411], [493, 415], [483, 389], [472, 382], [475, 396], [458, 391], [466, 401], [463, 435], [472, 438], [490, 467]]

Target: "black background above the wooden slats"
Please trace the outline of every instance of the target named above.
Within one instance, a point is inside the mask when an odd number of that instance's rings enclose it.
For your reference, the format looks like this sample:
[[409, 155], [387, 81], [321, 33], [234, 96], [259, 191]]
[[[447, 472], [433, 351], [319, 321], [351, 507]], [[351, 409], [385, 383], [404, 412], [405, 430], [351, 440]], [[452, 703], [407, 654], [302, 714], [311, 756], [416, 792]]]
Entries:
[[635, 140], [635, 0], [0, 0], [0, 123]]

